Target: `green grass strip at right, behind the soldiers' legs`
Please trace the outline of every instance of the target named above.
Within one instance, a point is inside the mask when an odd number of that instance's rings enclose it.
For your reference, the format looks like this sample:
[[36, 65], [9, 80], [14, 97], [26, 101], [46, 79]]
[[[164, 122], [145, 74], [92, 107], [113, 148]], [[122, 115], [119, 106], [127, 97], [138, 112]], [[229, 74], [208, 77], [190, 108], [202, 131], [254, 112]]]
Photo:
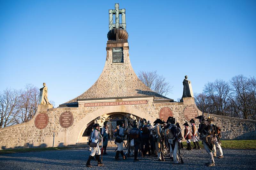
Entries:
[[[182, 142], [184, 148], [187, 148], [187, 143]], [[204, 148], [202, 142], [199, 142], [200, 147]], [[194, 147], [191, 142], [191, 147]], [[221, 140], [221, 148], [227, 149], [256, 149], [256, 140]]]

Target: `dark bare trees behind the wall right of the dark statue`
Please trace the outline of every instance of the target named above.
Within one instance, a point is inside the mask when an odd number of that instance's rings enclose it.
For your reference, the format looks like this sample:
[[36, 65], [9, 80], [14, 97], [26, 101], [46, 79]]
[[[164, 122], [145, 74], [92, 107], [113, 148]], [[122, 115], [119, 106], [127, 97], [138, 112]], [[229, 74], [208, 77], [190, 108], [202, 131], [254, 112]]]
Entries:
[[256, 120], [256, 79], [237, 75], [229, 81], [216, 79], [194, 94], [196, 106], [205, 113]]

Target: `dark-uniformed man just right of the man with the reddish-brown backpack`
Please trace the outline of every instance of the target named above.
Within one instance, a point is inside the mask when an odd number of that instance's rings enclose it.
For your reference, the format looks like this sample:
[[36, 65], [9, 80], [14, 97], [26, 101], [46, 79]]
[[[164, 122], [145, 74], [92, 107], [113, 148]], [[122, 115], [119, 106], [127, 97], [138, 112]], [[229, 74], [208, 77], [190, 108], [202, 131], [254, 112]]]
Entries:
[[146, 119], [143, 119], [141, 122], [142, 122], [142, 125], [140, 126], [140, 130], [142, 133], [142, 139], [140, 143], [140, 151], [142, 153], [142, 157], [145, 157], [146, 152], [148, 152], [148, 155], [151, 155], [150, 148], [149, 148], [149, 129], [148, 129], [148, 126], [146, 125], [146, 122], [147, 122]]

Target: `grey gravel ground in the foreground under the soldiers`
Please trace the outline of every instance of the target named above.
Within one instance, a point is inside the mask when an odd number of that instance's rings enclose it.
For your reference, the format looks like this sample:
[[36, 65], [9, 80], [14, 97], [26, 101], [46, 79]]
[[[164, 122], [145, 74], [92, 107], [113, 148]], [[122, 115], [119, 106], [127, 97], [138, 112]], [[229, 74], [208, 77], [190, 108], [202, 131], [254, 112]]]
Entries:
[[184, 160], [183, 165], [172, 165], [166, 158], [165, 162], [159, 162], [156, 158], [140, 158], [139, 162], [133, 162], [133, 158], [115, 161], [116, 148], [107, 148], [108, 155], [103, 156], [104, 167], [97, 167], [95, 160], [91, 161], [92, 168], [85, 166], [90, 152], [87, 149], [70, 149], [60, 151], [12, 153], [0, 156], [0, 169], [255, 169], [256, 150], [224, 149], [224, 158], [215, 158], [216, 166], [204, 166], [208, 155], [204, 149], [193, 151], [181, 151]]

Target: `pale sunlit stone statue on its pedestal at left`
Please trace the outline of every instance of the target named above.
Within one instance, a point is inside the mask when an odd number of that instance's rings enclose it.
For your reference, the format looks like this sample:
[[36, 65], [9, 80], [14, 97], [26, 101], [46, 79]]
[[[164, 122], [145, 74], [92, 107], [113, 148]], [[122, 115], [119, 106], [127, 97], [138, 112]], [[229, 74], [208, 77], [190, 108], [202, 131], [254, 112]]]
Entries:
[[49, 108], [53, 107], [48, 100], [48, 88], [45, 83], [43, 83], [43, 87], [40, 89], [38, 103], [39, 103], [39, 105], [37, 107], [38, 112], [47, 111]]

